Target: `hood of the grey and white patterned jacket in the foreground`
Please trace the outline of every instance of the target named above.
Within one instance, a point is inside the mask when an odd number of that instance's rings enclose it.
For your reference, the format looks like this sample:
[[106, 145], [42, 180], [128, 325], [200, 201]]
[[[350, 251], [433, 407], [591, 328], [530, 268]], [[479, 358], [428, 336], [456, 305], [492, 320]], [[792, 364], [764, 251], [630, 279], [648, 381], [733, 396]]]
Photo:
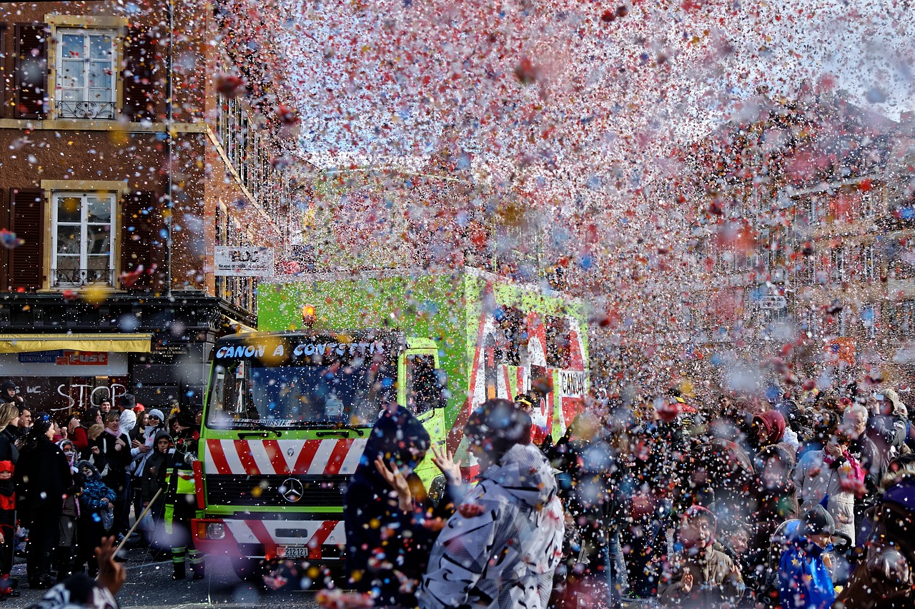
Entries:
[[533, 444], [515, 444], [480, 479], [492, 480], [530, 508], [540, 509], [556, 496], [553, 467]]

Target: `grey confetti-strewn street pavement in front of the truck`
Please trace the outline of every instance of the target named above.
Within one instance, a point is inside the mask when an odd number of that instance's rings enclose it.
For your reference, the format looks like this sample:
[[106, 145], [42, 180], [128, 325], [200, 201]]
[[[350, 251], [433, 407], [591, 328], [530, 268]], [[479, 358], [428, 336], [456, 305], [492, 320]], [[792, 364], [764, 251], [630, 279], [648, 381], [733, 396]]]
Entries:
[[[232, 572], [225, 557], [207, 557], [207, 577], [199, 582], [188, 579], [173, 582], [171, 561], [153, 561], [146, 550], [128, 550], [127, 582], [118, 594], [122, 607], [153, 608], [175, 607], [195, 609], [218, 606], [221, 609], [239, 609], [270, 605], [271, 609], [311, 609], [318, 607], [313, 592], [263, 592], [241, 582]], [[13, 577], [18, 578], [22, 596], [8, 599], [7, 607], [25, 607], [41, 598], [43, 590], [29, 590], [26, 584], [26, 564], [16, 559]]]

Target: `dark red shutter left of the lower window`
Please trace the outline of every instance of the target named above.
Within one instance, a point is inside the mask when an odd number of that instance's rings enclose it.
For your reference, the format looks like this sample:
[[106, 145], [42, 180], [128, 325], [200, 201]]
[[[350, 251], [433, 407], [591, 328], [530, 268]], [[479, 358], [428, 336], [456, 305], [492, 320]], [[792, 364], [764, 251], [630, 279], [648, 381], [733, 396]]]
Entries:
[[9, 252], [10, 290], [39, 290], [45, 279], [45, 193], [37, 188], [10, 190], [9, 230], [23, 240]]

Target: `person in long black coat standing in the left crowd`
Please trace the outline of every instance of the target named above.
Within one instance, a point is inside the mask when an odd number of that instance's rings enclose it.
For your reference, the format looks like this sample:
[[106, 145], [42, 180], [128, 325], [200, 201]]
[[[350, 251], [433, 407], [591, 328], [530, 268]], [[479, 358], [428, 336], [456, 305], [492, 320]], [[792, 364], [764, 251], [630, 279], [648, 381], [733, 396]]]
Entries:
[[54, 585], [51, 562], [58, 545], [64, 495], [72, 486], [67, 457], [51, 442], [52, 435], [50, 415], [38, 412], [16, 464], [16, 510], [29, 533], [26, 570], [30, 588]]

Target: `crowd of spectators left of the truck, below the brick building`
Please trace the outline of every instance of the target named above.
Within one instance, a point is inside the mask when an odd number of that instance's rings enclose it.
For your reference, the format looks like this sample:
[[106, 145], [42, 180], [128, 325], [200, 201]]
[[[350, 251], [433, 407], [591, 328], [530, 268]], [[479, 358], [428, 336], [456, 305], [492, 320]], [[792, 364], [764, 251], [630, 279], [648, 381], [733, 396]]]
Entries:
[[[167, 412], [128, 393], [52, 415], [0, 383], [0, 600], [20, 595], [16, 552], [25, 554], [28, 587], [48, 589], [73, 573], [97, 577], [102, 539], [120, 542], [131, 529], [132, 547], [149, 545], [161, 558], [171, 546], [183, 579], [193, 544], [179, 477], [196, 459], [199, 413], [177, 404]], [[163, 535], [169, 528], [177, 530]], [[193, 566], [202, 579], [202, 560]]]

